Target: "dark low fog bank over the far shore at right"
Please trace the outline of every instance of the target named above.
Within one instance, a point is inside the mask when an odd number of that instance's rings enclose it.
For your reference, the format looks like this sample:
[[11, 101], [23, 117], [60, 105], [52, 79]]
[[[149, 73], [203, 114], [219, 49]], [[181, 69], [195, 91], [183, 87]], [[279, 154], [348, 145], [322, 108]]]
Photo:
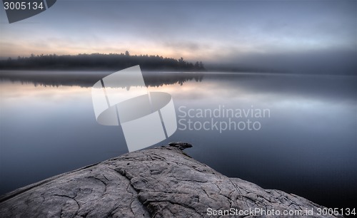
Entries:
[[285, 73], [356, 75], [356, 60], [356, 50], [326, 49], [284, 53], [236, 53], [221, 58], [221, 61], [211, 61], [208, 66], [222, 70], [226, 68]]

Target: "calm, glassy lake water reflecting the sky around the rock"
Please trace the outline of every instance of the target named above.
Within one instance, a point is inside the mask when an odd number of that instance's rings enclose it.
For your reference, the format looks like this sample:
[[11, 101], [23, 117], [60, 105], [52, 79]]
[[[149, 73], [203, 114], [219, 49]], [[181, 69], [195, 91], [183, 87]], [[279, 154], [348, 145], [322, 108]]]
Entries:
[[[127, 152], [120, 127], [96, 123], [95, 73], [16, 73], [0, 81], [0, 194]], [[179, 129], [159, 145], [191, 142], [188, 155], [228, 177], [356, 207], [357, 77], [163, 75], [146, 82], [171, 93]]]

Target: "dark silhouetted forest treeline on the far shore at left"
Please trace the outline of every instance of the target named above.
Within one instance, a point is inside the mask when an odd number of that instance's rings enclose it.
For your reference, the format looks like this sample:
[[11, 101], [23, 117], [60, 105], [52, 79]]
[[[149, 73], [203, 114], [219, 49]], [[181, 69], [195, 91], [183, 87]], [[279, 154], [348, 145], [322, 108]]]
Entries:
[[40, 55], [18, 57], [13, 60], [0, 61], [0, 69], [11, 70], [79, 70], [79, 69], [111, 69], [121, 70], [140, 65], [144, 71], [206, 71], [202, 62], [190, 63], [183, 58], [164, 58], [162, 56], [131, 56], [125, 53], [92, 53], [76, 56]]

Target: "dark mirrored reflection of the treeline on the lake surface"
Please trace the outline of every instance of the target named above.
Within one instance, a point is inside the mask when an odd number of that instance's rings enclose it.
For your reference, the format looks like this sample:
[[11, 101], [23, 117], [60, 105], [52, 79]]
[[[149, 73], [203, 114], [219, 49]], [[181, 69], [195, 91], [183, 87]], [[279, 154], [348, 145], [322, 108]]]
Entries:
[[[110, 72], [113, 73], [113, 72]], [[21, 83], [34, 83], [34, 85], [79, 85], [81, 87], [91, 87], [101, 78], [108, 76], [110, 73], [94, 73], [80, 71], [53, 71], [53, 72], [36, 72], [36, 71], [2, 71], [0, 72], [0, 81], [20, 81]], [[201, 82], [203, 74], [201, 73], [144, 73], [146, 86], [162, 86], [171, 84], [186, 83], [186, 81]], [[128, 87], [136, 86], [135, 83], [126, 83]], [[123, 87], [124, 88], [124, 87]]]

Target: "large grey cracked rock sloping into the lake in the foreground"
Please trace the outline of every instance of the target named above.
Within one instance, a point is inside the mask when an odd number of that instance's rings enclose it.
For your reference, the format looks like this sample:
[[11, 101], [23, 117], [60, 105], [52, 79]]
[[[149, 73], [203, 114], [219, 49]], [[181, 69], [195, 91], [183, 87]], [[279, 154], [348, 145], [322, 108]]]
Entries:
[[1, 217], [210, 217], [231, 208], [236, 216], [224, 217], [253, 217], [238, 212], [255, 209], [322, 217], [323, 207], [308, 199], [228, 178], [184, 155], [191, 146], [131, 152], [14, 190], [0, 197]]

